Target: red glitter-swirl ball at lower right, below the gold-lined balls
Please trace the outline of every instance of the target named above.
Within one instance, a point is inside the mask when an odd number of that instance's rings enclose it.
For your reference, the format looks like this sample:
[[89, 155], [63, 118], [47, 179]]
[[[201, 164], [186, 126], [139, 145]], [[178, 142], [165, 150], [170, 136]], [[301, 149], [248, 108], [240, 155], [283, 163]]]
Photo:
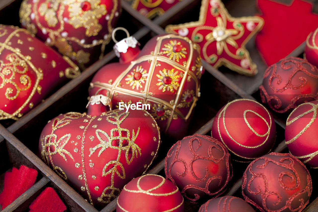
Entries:
[[243, 175], [244, 199], [260, 211], [302, 211], [311, 192], [307, 168], [289, 153], [272, 152], [255, 159]]

